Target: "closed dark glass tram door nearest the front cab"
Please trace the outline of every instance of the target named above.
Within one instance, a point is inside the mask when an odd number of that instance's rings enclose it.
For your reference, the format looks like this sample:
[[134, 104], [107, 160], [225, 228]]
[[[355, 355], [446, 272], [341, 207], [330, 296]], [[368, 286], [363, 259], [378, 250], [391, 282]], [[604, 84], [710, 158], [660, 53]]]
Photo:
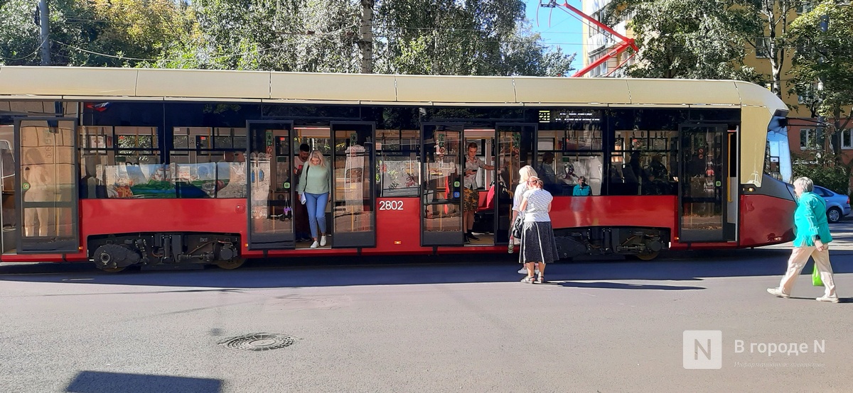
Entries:
[[727, 130], [722, 125], [680, 127], [680, 242], [724, 242], [728, 196]]

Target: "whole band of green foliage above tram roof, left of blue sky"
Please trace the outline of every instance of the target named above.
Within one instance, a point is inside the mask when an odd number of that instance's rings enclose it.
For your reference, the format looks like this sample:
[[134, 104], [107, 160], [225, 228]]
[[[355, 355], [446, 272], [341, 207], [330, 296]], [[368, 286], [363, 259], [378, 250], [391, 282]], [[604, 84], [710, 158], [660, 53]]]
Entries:
[[[0, 1], [0, 64], [38, 65], [32, 0]], [[521, 0], [53, 0], [55, 65], [357, 72], [362, 7], [374, 9], [374, 70], [566, 75]]]

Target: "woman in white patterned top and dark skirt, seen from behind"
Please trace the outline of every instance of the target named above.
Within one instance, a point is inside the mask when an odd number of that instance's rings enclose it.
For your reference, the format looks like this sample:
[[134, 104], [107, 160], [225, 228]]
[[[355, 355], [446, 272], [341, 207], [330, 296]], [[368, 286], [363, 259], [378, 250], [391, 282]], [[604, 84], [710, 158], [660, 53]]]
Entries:
[[557, 241], [551, 228], [551, 201], [554, 196], [542, 189], [543, 182], [537, 177], [528, 180], [531, 189], [525, 191], [519, 208], [525, 214], [525, 226], [521, 231], [519, 262], [525, 264], [527, 276], [521, 282], [534, 282], [534, 265], [539, 263], [537, 283], [545, 282], [545, 266], [560, 259]]

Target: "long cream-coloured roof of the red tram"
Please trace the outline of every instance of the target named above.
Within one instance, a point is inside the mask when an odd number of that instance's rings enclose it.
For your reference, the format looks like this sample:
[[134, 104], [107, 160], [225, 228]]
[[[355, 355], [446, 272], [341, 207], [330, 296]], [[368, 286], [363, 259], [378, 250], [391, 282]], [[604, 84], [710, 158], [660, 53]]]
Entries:
[[731, 80], [461, 77], [107, 67], [0, 66], [0, 97], [392, 105], [786, 105]]

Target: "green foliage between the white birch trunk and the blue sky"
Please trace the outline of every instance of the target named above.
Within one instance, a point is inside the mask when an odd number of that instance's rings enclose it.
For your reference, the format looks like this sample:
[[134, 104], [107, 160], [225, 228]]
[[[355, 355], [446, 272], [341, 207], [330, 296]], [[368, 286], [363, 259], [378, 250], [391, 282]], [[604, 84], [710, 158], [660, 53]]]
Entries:
[[549, 52], [520, 0], [379, 1], [377, 70], [432, 75], [565, 75], [574, 55]]

